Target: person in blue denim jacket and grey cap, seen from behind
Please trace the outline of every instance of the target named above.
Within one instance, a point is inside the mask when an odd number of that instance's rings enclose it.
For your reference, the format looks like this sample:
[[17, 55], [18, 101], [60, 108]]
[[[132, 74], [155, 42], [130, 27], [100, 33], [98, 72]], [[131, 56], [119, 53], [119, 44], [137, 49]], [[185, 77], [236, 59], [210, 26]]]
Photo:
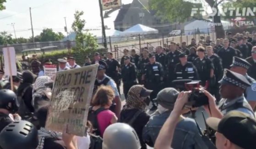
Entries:
[[[178, 96], [179, 92], [174, 88], [164, 88], [158, 93], [156, 98], [158, 102], [158, 111], [149, 119], [149, 122], [143, 128], [142, 137], [147, 145], [151, 147], [155, 145], [155, 149], [163, 149], [162, 147], [156, 148], [159, 145], [156, 142], [157, 137], [162, 135], [159, 134], [160, 129], [162, 126], [166, 127], [164, 123], [165, 121], [169, 121], [170, 113], [176, 113], [177, 107], [174, 106], [174, 104], [176, 104], [176, 100], [177, 102], [179, 101], [183, 103], [182, 107], [186, 102], [188, 102], [188, 99], [179, 98], [184, 93], [188, 98], [188, 92], [181, 92]], [[182, 114], [188, 112], [188, 110], [183, 110], [183, 112], [181, 111], [182, 110], [180, 109], [180, 112], [177, 113], [177, 126], [175, 127], [174, 123], [169, 123], [168, 127], [174, 128], [174, 139], [172, 145], [169, 143], [168, 148], [166, 149], [169, 149], [170, 145], [174, 149], [208, 149], [199, 134], [195, 120], [182, 116]], [[170, 133], [169, 130], [167, 132]]]

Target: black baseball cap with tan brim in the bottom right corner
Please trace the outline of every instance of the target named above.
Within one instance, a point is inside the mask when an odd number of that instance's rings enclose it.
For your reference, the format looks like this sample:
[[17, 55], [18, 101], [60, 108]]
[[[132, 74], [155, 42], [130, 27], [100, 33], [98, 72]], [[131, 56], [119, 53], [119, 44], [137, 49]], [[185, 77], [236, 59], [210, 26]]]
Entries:
[[222, 119], [207, 118], [208, 126], [244, 149], [256, 149], [256, 121], [240, 111], [230, 111]]

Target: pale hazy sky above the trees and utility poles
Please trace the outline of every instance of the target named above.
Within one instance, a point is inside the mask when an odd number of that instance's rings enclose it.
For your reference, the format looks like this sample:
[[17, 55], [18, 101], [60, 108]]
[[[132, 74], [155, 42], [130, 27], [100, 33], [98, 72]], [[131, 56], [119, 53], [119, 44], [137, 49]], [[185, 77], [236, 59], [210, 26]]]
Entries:
[[[131, 3], [132, 0], [122, 0], [123, 4]], [[15, 23], [16, 36], [29, 38], [32, 36], [30, 25], [29, 7], [32, 8], [34, 35], [38, 35], [44, 28], [53, 28], [54, 31], [64, 32], [67, 20], [68, 30], [74, 20], [76, 10], [84, 11], [83, 19], [86, 20], [86, 28], [100, 28], [100, 15], [98, 0], [7, 0], [6, 10], [0, 11], [0, 31], [8, 31], [14, 37], [13, 28]], [[114, 19], [118, 10], [104, 19], [105, 25], [114, 29]]]

